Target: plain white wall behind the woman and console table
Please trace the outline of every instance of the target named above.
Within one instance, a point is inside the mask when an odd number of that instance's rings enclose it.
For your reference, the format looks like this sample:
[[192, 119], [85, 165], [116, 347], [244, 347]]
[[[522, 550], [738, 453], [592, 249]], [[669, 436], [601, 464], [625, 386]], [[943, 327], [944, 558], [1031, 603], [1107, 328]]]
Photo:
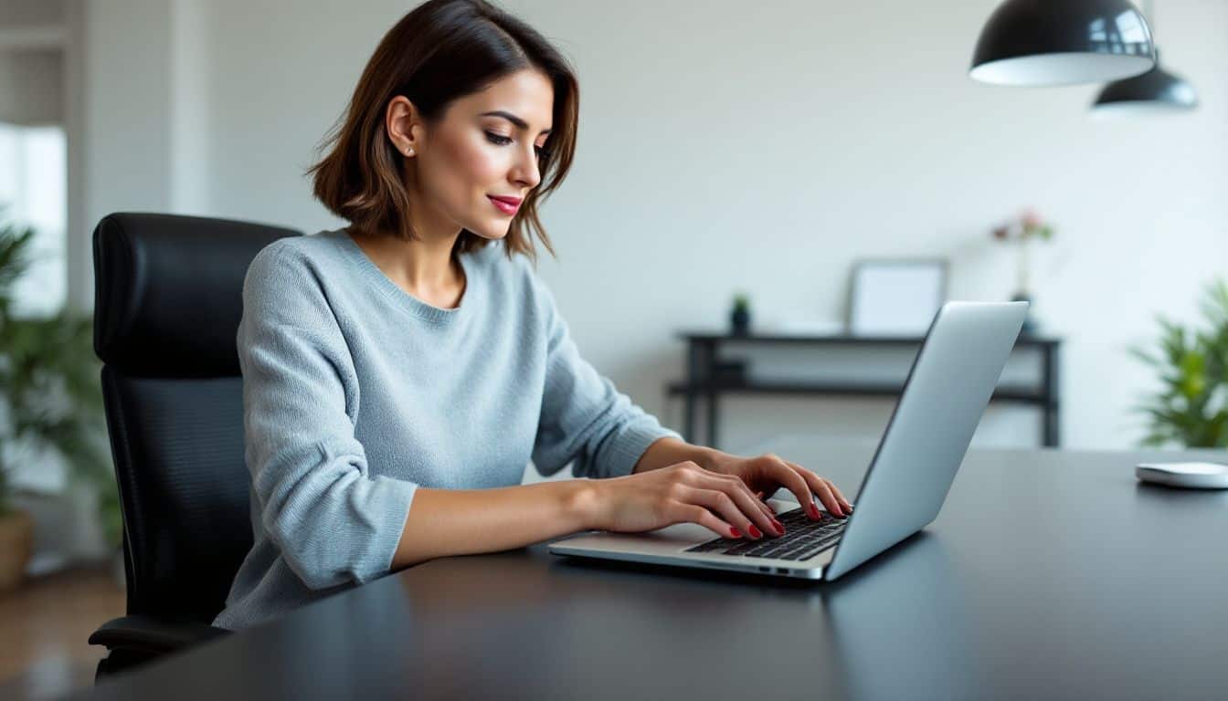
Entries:
[[[1038, 316], [1067, 339], [1065, 444], [1131, 446], [1141, 428], [1129, 406], [1151, 377], [1125, 347], [1153, 335], [1157, 311], [1191, 316], [1228, 260], [1228, 2], [1157, 4], [1165, 63], [1202, 108], [1117, 123], [1088, 118], [1094, 87], [970, 81], [995, 5], [505, 2], [580, 71], [576, 166], [545, 207], [560, 259], [542, 271], [585, 355], [661, 411], [662, 385], [682, 373], [674, 331], [722, 325], [736, 289], [763, 320], [836, 318], [853, 259], [949, 255], [954, 297], [1005, 298], [1013, 259], [987, 232], [1030, 205], [1059, 230], [1035, 279]], [[308, 231], [339, 223], [302, 172], [405, 2], [92, 10], [91, 226], [141, 205]], [[91, 290], [80, 287], [84, 302]], [[876, 436], [890, 409], [727, 406], [729, 449], [799, 430]], [[666, 420], [678, 424], [677, 406]], [[1030, 444], [1035, 431], [1030, 410], [992, 409], [977, 441]]]

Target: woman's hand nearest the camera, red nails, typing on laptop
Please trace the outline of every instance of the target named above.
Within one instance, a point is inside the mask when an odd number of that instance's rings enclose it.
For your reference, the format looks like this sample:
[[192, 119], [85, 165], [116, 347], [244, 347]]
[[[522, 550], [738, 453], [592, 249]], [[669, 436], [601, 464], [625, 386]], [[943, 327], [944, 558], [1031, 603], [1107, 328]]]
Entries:
[[698, 523], [723, 538], [758, 540], [785, 527], [747, 484], [693, 462], [623, 478], [592, 480], [589, 528], [616, 533]]

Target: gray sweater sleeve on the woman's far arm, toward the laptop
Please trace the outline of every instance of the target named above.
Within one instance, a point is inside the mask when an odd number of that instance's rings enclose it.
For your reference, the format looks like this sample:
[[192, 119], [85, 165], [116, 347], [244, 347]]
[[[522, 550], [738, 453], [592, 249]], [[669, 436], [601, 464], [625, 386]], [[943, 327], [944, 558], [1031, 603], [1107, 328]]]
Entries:
[[532, 274], [530, 284], [548, 336], [545, 392], [533, 447], [538, 471], [551, 475], [575, 462], [577, 478], [628, 475], [653, 441], [682, 438], [580, 357], [554, 296]]

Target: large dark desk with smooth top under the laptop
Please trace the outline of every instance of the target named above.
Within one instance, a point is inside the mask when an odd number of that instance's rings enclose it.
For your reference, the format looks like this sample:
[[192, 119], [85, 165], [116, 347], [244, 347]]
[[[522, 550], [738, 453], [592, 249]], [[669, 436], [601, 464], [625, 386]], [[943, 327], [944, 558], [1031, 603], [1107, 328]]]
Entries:
[[[873, 446], [772, 449], [851, 494]], [[96, 697], [1222, 699], [1228, 491], [1141, 486], [1141, 457], [974, 452], [933, 524], [830, 584], [437, 560]]]

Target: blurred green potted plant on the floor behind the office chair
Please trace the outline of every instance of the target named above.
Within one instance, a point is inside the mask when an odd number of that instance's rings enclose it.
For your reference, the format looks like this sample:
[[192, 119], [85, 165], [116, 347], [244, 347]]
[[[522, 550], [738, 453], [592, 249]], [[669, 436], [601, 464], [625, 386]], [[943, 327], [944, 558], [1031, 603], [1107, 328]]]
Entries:
[[12, 506], [15, 465], [6, 463], [16, 446], [58, 451], [74, 478], [98, 489], [108, 543], [118, 546], [122, 533], [92, 319], [71, 309], [15, 313], [12, 287], [29, 266], [33, 236], [0, 221], [0, 588], [21, 581], [33, 535], [29, 516]]

